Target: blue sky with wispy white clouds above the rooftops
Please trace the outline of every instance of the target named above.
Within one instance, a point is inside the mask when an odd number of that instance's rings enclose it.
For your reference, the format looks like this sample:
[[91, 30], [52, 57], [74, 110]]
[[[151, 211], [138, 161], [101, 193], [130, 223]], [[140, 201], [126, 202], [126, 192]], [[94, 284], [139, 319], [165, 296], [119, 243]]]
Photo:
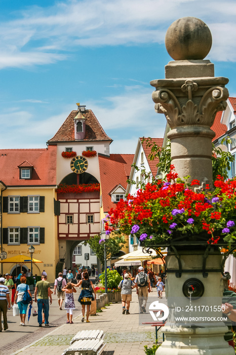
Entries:
[[163, 137], [150, 81], [172, 60], [165, 34], [176, 19], [201, 18], [206, 59], [236, 96], [235, 0], [0, 0], [0, 147], [46, 148], [76, 102], [134, 153], [138, 137]]

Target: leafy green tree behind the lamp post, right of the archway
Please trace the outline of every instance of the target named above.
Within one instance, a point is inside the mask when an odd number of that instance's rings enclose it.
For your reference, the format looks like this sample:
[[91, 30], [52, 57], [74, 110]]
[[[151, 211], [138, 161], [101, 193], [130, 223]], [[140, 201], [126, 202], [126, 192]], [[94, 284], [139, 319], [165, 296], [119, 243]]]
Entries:
[[[99, 243], [100, 235], [95, 235], [88, 240], [88, 244], [104, 266], [104, 242]], [[110, 260], [117, 255], [126, 243], [123, 236], [110, 236], [106, 240], [106, 259]]]

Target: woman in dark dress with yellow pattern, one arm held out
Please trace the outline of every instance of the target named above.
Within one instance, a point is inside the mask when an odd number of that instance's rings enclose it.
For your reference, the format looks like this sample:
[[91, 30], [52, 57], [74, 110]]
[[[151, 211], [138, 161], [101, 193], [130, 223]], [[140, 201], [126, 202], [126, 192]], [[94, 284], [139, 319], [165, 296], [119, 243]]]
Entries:
[[[84, 279], [80, 280], [77, 285], [73, 285], [74, 287], [78, 287], [81, 285], [82, 291], [80, 296], [78, 297], [78, 302], [81, 303], [82, 305], [82, 322], [85, 321], [85, 306], [87, 305], [87, 313], [86, 313], [86, 322], [90, 323], [89, 321], [89, 311], [90, 311], [90, 305], [91, 301], [96, 300], [96, 291], [94, 289], [93, 283], [91, 280], [89, 280], [89, 274], [87, 271], [84, 272]], [[90, 289], [93, 289], [94, 296], [92, 294], [92, 291]]]

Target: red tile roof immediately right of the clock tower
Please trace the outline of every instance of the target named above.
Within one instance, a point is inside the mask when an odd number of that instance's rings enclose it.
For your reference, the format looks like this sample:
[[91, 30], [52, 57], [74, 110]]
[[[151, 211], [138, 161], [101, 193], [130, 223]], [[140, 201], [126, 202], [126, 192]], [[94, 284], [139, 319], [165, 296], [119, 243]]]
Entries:
[[105, 157], [98, 154], [102, 204], [103, 211], [107, 212], [115, 204], [111, 202], [109, 193], [114, 190], [119, 184], [127, 188], [127, 179], [131, 171], [131, 164], [134, 160], [134, 154], [110, 154], [110, 157]]

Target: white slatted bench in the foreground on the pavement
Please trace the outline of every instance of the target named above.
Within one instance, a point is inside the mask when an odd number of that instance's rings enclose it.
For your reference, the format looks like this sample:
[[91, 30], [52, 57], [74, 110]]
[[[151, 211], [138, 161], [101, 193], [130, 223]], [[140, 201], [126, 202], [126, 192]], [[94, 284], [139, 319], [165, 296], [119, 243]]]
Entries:
[[62, 355], [100, 355], [106, 347], [104, 335], [102, 330], [82, 330], [71, 339]]

